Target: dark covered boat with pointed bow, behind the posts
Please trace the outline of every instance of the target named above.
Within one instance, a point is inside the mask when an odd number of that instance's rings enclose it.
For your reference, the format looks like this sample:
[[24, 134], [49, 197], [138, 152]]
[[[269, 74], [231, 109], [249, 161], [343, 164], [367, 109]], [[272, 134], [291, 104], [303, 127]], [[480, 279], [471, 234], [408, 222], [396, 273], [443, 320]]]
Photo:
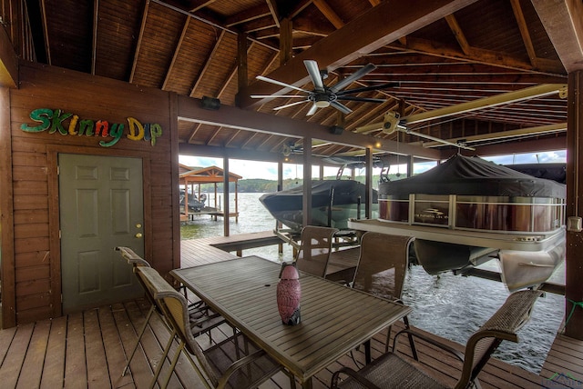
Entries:
[[[354, 180], [312, 181], [312, 225], [347, 229], [348, 220], [364, 214], [366, 186]], [[273, 217], [292, 230], [302, 229], [303, 186], [263, 194], [261, 204]], [[378, 195], [373, 190], [373, 204]]]

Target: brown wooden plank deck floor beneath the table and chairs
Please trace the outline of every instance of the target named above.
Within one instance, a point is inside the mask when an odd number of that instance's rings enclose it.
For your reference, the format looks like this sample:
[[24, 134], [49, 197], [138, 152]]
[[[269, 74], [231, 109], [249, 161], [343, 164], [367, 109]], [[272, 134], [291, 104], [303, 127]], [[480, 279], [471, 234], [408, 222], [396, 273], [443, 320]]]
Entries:
[[[183, 265], [208, 262], [211, 257], [215, 258], [213, 260], [233, 257], [228, 253], [217, 253], [212, 248], [201, 242], [183, 241]], [[134, 357], [129, 373], [121, 377], [126, 357], [147, 312], [147, 302], [140, 299], [0, 331], [0, 387], [148, 387], [152, 372], [160, 363], [162, 347], [169, 338], [168, 329], [158, 317], [150, 321], [143, 346]], [[395, 325], [394, 333], [401, 327], [402, 324]], [[218, 342], [226, 334], [230, 334], [230, 327], [219, 327], [213, 330], [212, 341]], [[206, 344], [210, 342], [206, 335], [199, 340]], [[373, 338], [373, 357], [384, 352], [384, 340], [384, 333]], [[463, 349], [460, 344], [447, 343]], [[461, 367], [459, 363], [427, 344], [417, 343], [417, 347], [422, 361], [435, 375], [446, 383], [455, 383]], [[404, 340], [399, 344], [399, 350], [408, 353], [408, 344]], [[363, 352], [355, 352], [354, 358], [362, 364]], [[583, 376], [582, 361], [583, 342], [558, 335], [540, 375], [492, 359], [479, 378], [484, 388], [580, 388], [583, 384], [577, 379]], [[167, 369], [168, 361], [163, 363]], [[355, 366], [350, 355], [344, 355], [317, 374], [313, 387], [329, 387], [332, 373], [343, 365]], [[553, 376], [555, 381], [547, 379]], [[169, 387], [199, 388], [203, 385], [186, 358], [182, 357]], [[282, 373], [261, 385], [263, 389], [289, 387], [289, 379]]]

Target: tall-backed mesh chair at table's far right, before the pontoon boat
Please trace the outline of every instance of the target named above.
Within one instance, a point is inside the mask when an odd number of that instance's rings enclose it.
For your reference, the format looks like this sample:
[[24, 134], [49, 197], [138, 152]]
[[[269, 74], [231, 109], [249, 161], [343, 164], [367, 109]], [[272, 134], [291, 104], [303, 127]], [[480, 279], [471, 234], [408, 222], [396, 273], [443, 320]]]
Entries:
[[[383, 297], [387, 300], [400, 301], [403, 292], [404, 277], [409, 264], [409, 246], [414, 241], [412, 236], [380, 234], [368, 232], [361, 238], [361, 254], [354, 274], [353, 288]], [[403, 318], [406, 328], [409, 319]], [[384, 352], [389, 351], [391, 327], [386, 334]], [[416, 359], [413, 338], [410, 344]], [[370, 341], [365, 344], [366, 363], [371, 362]]]

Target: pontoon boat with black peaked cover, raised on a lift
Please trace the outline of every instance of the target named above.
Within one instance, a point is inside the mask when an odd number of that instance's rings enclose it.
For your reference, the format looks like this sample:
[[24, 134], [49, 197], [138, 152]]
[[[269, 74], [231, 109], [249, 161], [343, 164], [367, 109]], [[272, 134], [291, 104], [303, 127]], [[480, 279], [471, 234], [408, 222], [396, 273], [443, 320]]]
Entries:
[[415, 237], [429, 274], [500, 260], [508, 290], [545, 282], [565, 258], [566, 187], [479, 157], [379, 186], [378, 220], [355, 229]]

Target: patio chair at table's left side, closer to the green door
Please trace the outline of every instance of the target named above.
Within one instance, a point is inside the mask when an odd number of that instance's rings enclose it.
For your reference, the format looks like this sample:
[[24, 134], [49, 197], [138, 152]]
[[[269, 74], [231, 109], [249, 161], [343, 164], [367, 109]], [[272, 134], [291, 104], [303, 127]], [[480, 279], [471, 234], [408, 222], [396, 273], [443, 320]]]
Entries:
[[[138, 346], [141, 343], [142, 336], [146, 332], [146, 328], [148, 328], [148, 323], [150, 318], [152, 317], [152, 314], [157, 313], [161, 318], [162, 312], [159, 310], [158, 305], [156, 304], [154, 294], [148, 288], [148, 285], [144, 283], [144, 280], [142, 279], [142, 277], [138, 275], [137, 272], [138, 267], [150, 267], [148, 261], [146, 261], [138, 254], [136, 254], [129, 247], [118, 246], [116, 247], [116, 250], [119, 252], [119, 254], [121, 254], [122, 257], [124, 257], [128, 261], [128, 264], [131, 264], [133, 266], [133, 271], [138, 276], [139, 284], [142, 285], [144, 292], [146, 294], [146, 298], [150, 303], [148, 314], [146, 314], [146, 320], [144, 321], [144, 324], [142, 324], [142, 327], [139, 329], [136, 344], [134, 344], [134, 347], [131, 353], [129, 354], [128, 361], [121, 372], [121, 376], [124, 376], [128, 373], [129, 364], [131, 363], [131, 360], [134, 358], [136, 351], [138, 351]], [[198, 302], [197, 304], [191, 304], [189, 306], [190, 323], [193, 325], [194, 328], [197, 328], [199, 330], [199, 334], [202, 333], [210, 334], [210, 329], [224, 323], [225, 320], [220, 316], [220, 314], [214, 314], [213, 312], [210, 311], [210, 309], [206, 305], [201, 303], [202, 302]]]

